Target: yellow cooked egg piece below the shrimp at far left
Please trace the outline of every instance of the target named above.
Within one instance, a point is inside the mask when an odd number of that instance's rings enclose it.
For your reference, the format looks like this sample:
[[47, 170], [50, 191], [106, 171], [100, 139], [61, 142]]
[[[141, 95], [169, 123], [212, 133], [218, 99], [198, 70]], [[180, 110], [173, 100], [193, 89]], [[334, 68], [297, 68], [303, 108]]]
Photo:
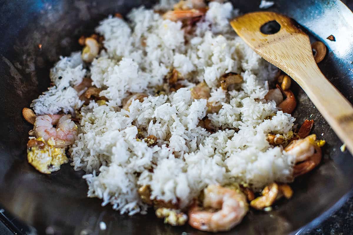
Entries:
[[27, 147], [28, 163], [41, 173], [50, 174], [58, 171], [62, 164], [68, 162], [65, 148], [55, 148], [52, 141], [46, 143], [42, 137], [32, 138], [28, 141]]

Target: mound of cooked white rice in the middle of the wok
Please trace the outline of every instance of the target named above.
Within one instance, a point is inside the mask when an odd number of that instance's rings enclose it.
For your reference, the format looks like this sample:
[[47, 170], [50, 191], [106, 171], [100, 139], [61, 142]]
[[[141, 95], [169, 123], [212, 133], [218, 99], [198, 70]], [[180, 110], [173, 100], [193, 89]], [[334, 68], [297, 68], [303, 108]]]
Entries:
[[[156, 9], [166, 10], [172, 2], [163, 0]], [[91, 63], [90, 73], [75, 53], [55, 65], [50, 74], [55, 87], [31, 105], [38, 115], [79, 109], [82, 101], [72, 86], [84, 76], [109, 99], [82, 107], [79, 135], [69, 149], [74, 169], [88, 173], [89, 197], [132, 215], [146, 212], [137, 192], [143, 185], [150, 186], [151, 199], [178, 201], [184, 208], [209, 184], [259, 190], [290, 180], [293, 156], [271, 146], [267, 134], [287, 134], [295, 119], [264, 99], [276, 68], [235, 35], [228, 20], [237, 14], [230, 3], [211, 2], [190, 36], [181, 22], [140, 7], [128, 14], [129, 22], [111, 16], [100, 22], [96, 32], [104, 36], [107, 51]], [[154, 87], [172, 68], [186, 79], [186, 88], [155, 96]], [[228, 72], [243, 76], [239, 89], [218, 87]], [[207, 114], [207, 100], [191, 98], [193, 83], [202, 81], [212, 89], [208, 101], [222, 105], [218, 113]], [[134, 92], [150, 96], [134, 100], [129, 111], [120, 109]], [[217, 128], [214, 134], [198, 126], [206, 116]], [[137, 134], [154, 135], [158, 144], [148, 147]]]

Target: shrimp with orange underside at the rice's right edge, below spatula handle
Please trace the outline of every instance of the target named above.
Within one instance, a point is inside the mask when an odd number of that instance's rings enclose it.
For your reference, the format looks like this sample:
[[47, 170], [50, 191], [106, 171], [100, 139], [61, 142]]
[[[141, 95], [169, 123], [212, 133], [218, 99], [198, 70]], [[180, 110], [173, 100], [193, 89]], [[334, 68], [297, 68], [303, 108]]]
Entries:
[[321, 162], [322, 152], [315, 143], [316, 135], [307, 136], [304, 139], [293, 140], [286, 148], [288, 154], [295, 156], [293, 176], [298, 177], [312, 169]]

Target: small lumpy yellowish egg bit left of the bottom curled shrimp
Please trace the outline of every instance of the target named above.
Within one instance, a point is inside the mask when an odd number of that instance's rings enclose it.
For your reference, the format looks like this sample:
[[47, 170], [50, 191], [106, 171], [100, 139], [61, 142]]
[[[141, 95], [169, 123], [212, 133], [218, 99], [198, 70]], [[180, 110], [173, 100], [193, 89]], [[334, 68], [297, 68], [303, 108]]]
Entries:
[[170, 208], [158, 208], [156, 210], [156, 216], [158, 218], [164, 218], [164, 223], [172, 226], [181, 226], [187, 221], [187, 215], [180, 210]]

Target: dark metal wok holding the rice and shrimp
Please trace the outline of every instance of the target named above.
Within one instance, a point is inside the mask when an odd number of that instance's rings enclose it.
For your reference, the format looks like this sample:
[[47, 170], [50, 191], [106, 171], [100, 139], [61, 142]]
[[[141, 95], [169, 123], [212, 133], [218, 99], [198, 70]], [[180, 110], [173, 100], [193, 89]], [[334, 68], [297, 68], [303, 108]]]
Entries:
[[[241, 12], [257, 11], [259, 0], [234, 0]], [[339, 1], [276, 0], [269, 10], [297, 20], [311, 37], [328, 47], [319, 64], [324, 75], [353, 101], [353, 16]], [[44, 175], [26, 160], [26, 142], [32, 126], [21, 110], [49, 86], [49, 69], [60, 55], [79, 50], [77, 39], [90, 35], [108, 14], [126, 14], [132, 7], [152, 1], [127, 0], [17, 0], [0, 2], [0, 204], [6, 215], [33, 226], [38, 234], [205, 234], [190, 226], [171, 227], [149, 215], [120, 215], [109, 205], [87, 198], [84, 172], [69, 164]], [[352, 7], [352, 1], [346, 2]], [[334, 35], [336, 42], [326, 39]], [[313, 39], [315, 40], [315, 39]], [[42, 49], [38, 48], [42, 44]], [[319, 86], [319, 84], [318, 84]], [[281, 200], [273, 211], [250, 211], [235, 229], [223, 234], [288, 234], [312, 228], [339, 208], [353, 186], [353, 158], [342, 153], [337, 138], [298, 85], [297, 123], [315, 120], [313, 132], [327, 141], [319, 168], [293, 183], [294, 196]], [[1, 208], [1, 207], [0, 207]], [[1, 213], [0, 213], [1, 214]], [[3, 218], [4, 219], [4, 218]], [[104, 221], [107, 229], [99, 229]], [[14, 231], [13, 225], [7, 221]], [[298, 230], [299, 229], [299, 230]], [[17, 233], [24, 232], [17, 230]], [[32, 232], [35, 232], [34, 230]]]

